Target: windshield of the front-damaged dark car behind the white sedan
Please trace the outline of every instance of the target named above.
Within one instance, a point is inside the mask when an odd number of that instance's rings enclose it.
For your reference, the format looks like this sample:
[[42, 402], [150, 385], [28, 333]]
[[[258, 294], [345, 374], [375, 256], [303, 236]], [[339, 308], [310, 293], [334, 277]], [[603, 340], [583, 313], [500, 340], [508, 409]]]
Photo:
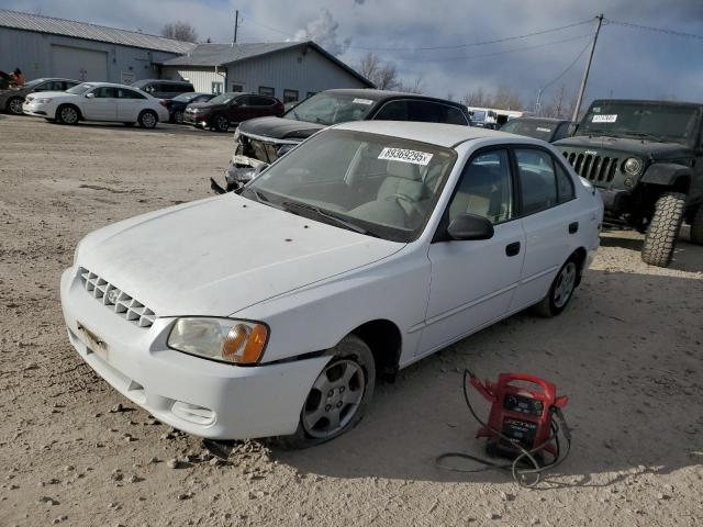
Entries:
[[375, 100], [365, 97], [317, 93], [290, 109], [284, 116], [324, 125], [362, 121], [375, 103]]

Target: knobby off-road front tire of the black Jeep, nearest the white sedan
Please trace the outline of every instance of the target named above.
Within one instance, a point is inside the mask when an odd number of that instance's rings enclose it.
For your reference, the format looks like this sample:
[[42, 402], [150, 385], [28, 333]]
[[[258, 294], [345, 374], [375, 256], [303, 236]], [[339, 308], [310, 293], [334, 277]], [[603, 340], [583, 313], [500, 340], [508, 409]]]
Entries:
[[667, 267], [671, 264], [683, 220], [684, 203], [685, 194], [680, 192], [665, 192], [657, 200], [641, 249], [641, 259], [645, 264], [657, 267]]

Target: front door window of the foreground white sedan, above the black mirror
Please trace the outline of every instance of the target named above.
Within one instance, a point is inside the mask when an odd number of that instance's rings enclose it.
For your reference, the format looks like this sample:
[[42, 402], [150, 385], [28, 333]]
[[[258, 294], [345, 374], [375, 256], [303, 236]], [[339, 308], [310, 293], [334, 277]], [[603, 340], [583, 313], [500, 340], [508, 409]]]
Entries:
[[507, 150], [476, 156], [464, 168], [449, 204], [449, 221], [470, 213], [502, 223], [513, 217], [513, 188]]

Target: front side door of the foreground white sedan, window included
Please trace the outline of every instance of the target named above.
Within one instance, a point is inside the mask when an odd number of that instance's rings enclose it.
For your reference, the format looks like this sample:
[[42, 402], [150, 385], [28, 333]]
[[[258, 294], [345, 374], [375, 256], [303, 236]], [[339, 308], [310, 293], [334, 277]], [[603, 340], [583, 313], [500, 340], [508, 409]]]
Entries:
[[482, 240], [433, 240], [432, 279], [419, 352], [429, 354], [505, 316], [520, 282], [525, 233], [517, 217], [506, 148], [479, 150], [466, 165], [445, 211], [448, 225], [478, 214], [494, 234]]

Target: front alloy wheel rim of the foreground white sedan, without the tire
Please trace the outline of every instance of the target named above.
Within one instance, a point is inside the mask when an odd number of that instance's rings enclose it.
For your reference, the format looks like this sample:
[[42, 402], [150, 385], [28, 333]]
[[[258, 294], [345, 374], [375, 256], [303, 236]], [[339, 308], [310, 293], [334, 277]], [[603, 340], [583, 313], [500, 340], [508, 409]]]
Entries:
[[364, 399], [366, 378], [354, 360], [344, 359], [325, 367], [312, 385], [302, 412], [304, 430], [324, 439], [344, 428]]

